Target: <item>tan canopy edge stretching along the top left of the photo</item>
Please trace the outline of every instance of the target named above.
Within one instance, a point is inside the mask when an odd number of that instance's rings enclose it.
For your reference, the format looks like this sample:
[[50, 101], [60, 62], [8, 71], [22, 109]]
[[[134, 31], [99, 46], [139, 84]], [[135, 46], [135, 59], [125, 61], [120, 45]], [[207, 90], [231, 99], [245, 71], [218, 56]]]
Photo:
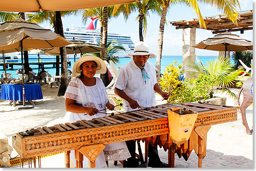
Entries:
[[0, 11], [36, 12], [36, 11], [66, 11], [107, 7], [115, 4], [125, 4], [136, 0], [3, 0], [0, 1]]

